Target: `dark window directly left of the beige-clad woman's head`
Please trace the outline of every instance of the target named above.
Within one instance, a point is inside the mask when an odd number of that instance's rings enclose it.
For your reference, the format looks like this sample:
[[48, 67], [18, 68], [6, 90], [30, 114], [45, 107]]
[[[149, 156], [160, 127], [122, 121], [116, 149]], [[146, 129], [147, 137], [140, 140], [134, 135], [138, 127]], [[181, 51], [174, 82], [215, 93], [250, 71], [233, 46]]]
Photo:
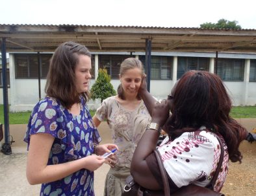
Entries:
[[129, 55], [99, 55], [99, 68], [107, 69], [112, 79], [119, 78], [120, 65]]

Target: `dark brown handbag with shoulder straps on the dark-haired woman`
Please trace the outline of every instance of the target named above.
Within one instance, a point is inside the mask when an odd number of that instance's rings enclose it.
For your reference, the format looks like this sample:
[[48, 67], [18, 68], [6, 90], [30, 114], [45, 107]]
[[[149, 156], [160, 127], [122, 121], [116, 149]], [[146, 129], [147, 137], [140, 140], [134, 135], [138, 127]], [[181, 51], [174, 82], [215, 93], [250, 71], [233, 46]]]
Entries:
[[[214, 184], [216, 180], [218, 179], [218, 174], [220, 173], [220, 169], [222, 168], [222, 163], [224, 160], [224, 147], [222, 144], [222, 140], [216, 135], [216, 138], [218, 138], [218, 141], [220, 143], [220, 160], [218, 162], [218, 166], [216, 168], [216, 171], [214, 173], [214, 176], [212, 177], [211, 182], [205, 187], [203, 186], [197, 186], [196, 184], [188, 184], [187, 186], [183, 186], [179, 188], [179, 190], [172, 193], [172, 196], [183, 196], [183, 195], [190, 195], [190, 196], [225, 196], [223, 193], [219, 193], [217, 191], [214, 191]], [[148, 190], [146, 188], [143, 188], [138, 183], [136, 183], [133, 180], [132, 176], [127, 177], [126, 179], [126, 185], [123, 188], [122, 196], [170, 196], [170, 188], [168, 184], [168, 179], [166, 176], [166, 171], [164, 169], [164, 165], [162, 164], [162, 161], [160, 160], [160, 153], [159, 151], [154, 151], [155, 156], [157, 157], [157, 162], [159, 164], [160, 173], [162, 175], [162, 182], [164, 183], [164, 190]]]

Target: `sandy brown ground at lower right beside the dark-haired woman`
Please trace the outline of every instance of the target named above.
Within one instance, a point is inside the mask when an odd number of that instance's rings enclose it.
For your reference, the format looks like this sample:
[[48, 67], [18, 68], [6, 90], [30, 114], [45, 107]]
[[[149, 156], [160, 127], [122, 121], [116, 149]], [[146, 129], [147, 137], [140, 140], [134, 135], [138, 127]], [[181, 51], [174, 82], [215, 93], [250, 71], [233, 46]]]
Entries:
[[256, 142], [244, 141], [239, 147], [242, 164], [229, 161], [229, 172], [222, 193], [225, 195], [256, 195]]

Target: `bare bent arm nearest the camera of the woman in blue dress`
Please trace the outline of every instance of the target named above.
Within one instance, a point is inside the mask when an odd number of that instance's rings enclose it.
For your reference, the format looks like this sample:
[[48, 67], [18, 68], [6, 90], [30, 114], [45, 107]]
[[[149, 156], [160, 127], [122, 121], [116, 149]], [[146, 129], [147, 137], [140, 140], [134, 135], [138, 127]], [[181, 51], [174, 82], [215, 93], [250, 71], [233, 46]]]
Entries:
[[47, 165], [54, 139], [46, 133], [31, 135], [27, 157], [27, 180], [30, 184], [53, 182], [83, 168], [94, 171], [105, 161], [102, 157], [90, 155], [63, 164]]

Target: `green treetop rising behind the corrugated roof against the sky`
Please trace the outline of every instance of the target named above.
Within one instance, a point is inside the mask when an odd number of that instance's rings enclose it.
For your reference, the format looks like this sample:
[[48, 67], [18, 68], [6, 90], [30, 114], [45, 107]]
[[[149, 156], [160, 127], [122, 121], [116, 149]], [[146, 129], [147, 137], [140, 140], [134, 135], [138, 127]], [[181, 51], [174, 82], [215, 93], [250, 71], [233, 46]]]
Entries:
[[220, 19], [218, 23], [203, 23], [200, 28], [231, 28], [231, 29], [241, 29], [238, 25], [238, 21], [227, 21], [226, 19]]

